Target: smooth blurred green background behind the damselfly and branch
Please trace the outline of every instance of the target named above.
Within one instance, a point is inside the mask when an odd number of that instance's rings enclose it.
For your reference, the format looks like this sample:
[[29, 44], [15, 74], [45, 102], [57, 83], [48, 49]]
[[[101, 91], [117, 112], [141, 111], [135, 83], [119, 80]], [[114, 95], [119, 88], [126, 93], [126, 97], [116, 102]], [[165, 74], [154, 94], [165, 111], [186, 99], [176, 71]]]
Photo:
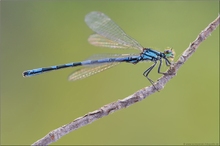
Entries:
[[[145, 47], [175, 61], [219, 13], [218, 1], [1, 1], [1, 144], [30, 145], [75, 118], [150, 85], [152, 63], [120, 64], [68, 82], [77, 68], [23, 78], [24, 70], [128, 53], [95, 47], [84, 22], [101, 11]], [[135, 51], [134, 51], [135, 52]], [[135, 52], [137, 53], [137, 52]], [[166, 70], [163, 67], [162, 70]], [[153, 70], [150, 77], [161, 75]], [[219, 28], [161, 92], [53, 143], [182, 145], [219, 141]]]

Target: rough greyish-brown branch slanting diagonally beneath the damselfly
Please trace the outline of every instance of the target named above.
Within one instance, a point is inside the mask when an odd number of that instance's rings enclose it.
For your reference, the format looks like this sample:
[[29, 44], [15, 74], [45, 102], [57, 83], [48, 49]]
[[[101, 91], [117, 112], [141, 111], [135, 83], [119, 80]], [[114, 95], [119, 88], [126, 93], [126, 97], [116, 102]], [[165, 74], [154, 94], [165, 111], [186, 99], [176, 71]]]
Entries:
[[[198, 46], [203, 42], [208, 36], [210, 36], [211, 32], [215, 30], [220, 23], [220, 16], [218, 16], [212, 23], [210, 23], [196, 38], [195, 41], [193, 41], [189, 47], [183, 52], [183, 54], [180, 56], [178, 61], [174, 63], [171, 68], [167, 71], [167, 73], [162, 76], [156, 83], [155, 87], [159, 90], [163, 89], [165, 84], [173, 78], [178, 69], [189, 59], [189, 57], [192, 56], [192, 54], [196, 51]], [[136, 93], [128, 96], [127, 98], [124, 98], [122, 100], [118, 100], [116, 102], [104, 105], [98, 110], [95, 110], [93, 112], [89, 112], [88, 114], [79, 117], [72, 121], [69, 124], [63, 125], [62, 127], [59, 127], [51, 132], [49, 132], [45, 137], [38, 140], [37, 142], [33, 143], [32, 145], [48, 145], [52, 142], [57, 141], [64, 135], [80, 128], [85, 125], [88, 125], [104, 116], [109, 115], [110, 113], [113, 113], [119, 109], [126, 108], [136, 102], [139, 102], [149, 95], [153, 94], [154, 92], [157, 92], [157, 90], [151, 85], [149, 87], [145, 87]]]

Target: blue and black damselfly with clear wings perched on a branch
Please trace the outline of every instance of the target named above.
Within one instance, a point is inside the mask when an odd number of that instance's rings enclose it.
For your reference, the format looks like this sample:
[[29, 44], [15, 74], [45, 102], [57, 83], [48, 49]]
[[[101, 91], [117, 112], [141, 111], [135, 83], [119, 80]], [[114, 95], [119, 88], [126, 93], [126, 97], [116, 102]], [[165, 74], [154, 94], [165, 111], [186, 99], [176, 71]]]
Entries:
[[[95, 46], [120, 48], [120, 49], [137, 49], [140, 54], [114, 54], [101, 56], [98, 59], [88, 59], [81, 62], [72, 62], [63, 65], [55, 65], [44, 68], [37, 68], [23, 72], [24, 77], [33, 76], [53, 70], [84, 66], [84, 68], [75, 71], [69, 76], [70, 81], [83, 79], [94, 75], [98, 72], [104, 71], [113, 67], [121, 62], [136, 64], [139, 61], [152, 61], [154, 64], [144, 71], [143, 75], [153, 85], [153, 81], [148, 77], [151, 70], [159, 61], [158, 73], [164, 74], [160, 71], [162, 59], [165, 60], [167, 66], [171, 65], [168, 59], [174, 58], [174, 51], [171, 48], [166, 49], [164, 52], [159, 52], [151, 48], [144, 48], [136, 40], [128, 36], [114, 21], [101, 12], [91, 12], [85, 17], [86, 24], [94, 31], [89, 37], [88, 41]], [[153, 85], [154, 86], [154, 85]]]

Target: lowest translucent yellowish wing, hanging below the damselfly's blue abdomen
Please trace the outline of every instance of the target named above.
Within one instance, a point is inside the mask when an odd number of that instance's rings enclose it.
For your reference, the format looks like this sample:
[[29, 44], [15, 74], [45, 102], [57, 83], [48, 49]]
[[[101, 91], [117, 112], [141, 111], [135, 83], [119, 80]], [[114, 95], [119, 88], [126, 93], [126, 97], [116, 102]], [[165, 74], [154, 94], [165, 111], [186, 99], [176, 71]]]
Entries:
[[75, 72], [73, 72], [73, 74], [71, 74], [69, 76], [68, 80], [69, 81], [76, 81], [79, 79], [84, 79], [84, 78], [87, 78], [87, 77], [94, 75], [96, 73], [102, 72], [106, 69], [109, 69], [109, 68], [111, 68], [115, 65], [118, 65], [118, 64], [119, 64], [119, 62], [82, 68], [82, 69], [79, 69], [79, 70], [76, 70]]

